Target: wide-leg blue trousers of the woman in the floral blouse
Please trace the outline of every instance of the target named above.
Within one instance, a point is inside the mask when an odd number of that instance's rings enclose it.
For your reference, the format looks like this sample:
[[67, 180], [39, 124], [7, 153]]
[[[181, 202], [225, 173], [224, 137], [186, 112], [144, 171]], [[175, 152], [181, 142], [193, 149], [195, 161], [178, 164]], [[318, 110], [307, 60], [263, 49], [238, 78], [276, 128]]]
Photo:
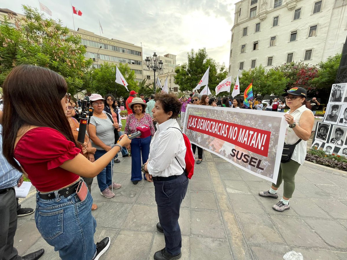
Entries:
[[[134, 138], [131, 143], [131, 179], [130, 181], [141, 181], [141, 165], [147, 162], [150, 153], [150, 143], [152, 137]], [[141, 163], [142, 155], [142, 163]]]

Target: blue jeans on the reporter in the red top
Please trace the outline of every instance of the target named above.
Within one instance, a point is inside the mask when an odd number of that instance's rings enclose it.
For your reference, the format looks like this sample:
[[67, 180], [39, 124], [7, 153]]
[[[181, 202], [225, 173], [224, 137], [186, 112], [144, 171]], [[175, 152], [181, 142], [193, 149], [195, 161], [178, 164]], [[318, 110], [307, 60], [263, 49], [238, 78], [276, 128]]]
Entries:
[[59, 251], [63, 260], [90, 260], [96, 246], [96, 220], [92, 216], [92, 196], [84, 201], [76, 193], [65, 198], [44, 200], [36, 194], [35, 222], [43, 239]]

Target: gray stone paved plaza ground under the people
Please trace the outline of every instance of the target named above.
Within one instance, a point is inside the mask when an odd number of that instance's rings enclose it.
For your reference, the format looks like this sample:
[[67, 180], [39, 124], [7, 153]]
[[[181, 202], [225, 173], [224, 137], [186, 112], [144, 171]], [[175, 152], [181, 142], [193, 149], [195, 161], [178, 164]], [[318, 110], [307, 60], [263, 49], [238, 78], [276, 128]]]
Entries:
[[[100, 195], [96, 178], [92, 185], [98, 205], [93, 211], [98, 225], [94, 239], [111, 237], [111, 246], [100, 259], [153, 259], [154, 252], [164, 247], [164, 236], [155, 228], [154, 187], [145, 181], [133, 185], [131, 158], [120, 160], [114, 166], [114, 180], [122, 187], [114, 198]], [[279, 260], [294, 250], [304, 260], [346, 260], [347, 177], [305, 163], [295, 181], [291, 209], [279, 213], [271, 208], [278, 200], [257, 195], [269, 189], [269, 182], [204, 152], [181, 206], [181, 259]], [[20, 202], [35, 208], [35, 190]], [[34, 214], [18, 219], [15, 246], [22, 255], [44, 248], [40, 259], [59, 259], [37, 231]]]

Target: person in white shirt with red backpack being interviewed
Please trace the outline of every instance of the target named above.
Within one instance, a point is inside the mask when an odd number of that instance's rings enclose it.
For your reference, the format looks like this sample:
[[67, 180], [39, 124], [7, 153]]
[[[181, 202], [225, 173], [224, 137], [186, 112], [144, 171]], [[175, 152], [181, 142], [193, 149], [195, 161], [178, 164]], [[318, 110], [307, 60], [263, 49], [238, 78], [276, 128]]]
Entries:
[[159, 125], [151, 141], [148, 161], [142, 166], [147, 181], [154, 182], [159, 216], [156, 228], [165, 236], [165, 248], [155, 252], [155, 260], [181, 257], [182, 237], [178, 218], [187, 192], [188, 177], [183, 170], [187, 148], [176, 121], [180, 109], [181, 102], [174, 94], [155, 96], [152, 112]]

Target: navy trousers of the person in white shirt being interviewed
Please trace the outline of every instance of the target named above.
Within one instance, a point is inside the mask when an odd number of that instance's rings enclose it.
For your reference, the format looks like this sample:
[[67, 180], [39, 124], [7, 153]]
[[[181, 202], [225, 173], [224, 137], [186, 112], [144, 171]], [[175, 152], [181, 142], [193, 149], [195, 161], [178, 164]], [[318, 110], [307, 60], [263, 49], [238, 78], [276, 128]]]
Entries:
[[187, 193], [188, 182], [185, 173], [170, 181], [153, 180], [159, 222], [164, 230], [165, 250], [173, 255], [181, 252], [182, 236], [178, 218], [181, 202]]

